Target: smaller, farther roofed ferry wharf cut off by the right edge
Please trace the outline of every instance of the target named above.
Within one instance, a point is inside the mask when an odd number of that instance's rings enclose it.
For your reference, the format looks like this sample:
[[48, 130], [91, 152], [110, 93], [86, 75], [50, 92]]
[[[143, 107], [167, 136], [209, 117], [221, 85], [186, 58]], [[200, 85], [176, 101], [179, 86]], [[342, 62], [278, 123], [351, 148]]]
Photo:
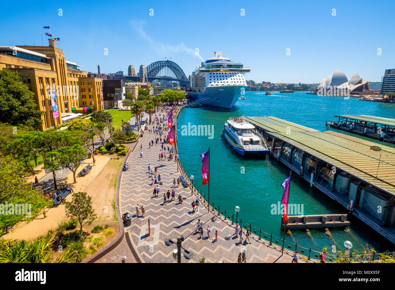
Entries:
[[337, 115], [337, 122], [327, 122], [326, 125], [374, 138], [380, 141], [395, 143], [395, 119], [369, 115]]

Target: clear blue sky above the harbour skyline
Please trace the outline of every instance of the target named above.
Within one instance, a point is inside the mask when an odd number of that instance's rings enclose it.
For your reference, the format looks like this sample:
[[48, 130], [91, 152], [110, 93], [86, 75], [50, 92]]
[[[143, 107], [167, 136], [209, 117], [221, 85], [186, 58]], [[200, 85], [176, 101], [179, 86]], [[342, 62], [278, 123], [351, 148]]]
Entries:
[[7, 1], [0, 45], [41, 45], [41, 34], [48, 45], [50, 24], [85, 71], [127, 73], [171, 57], [188, 76], [218, 50], [257, 82], [320, 82], [335, 69], [380, 81], [395, 67], [394, 12], [395, 1]]

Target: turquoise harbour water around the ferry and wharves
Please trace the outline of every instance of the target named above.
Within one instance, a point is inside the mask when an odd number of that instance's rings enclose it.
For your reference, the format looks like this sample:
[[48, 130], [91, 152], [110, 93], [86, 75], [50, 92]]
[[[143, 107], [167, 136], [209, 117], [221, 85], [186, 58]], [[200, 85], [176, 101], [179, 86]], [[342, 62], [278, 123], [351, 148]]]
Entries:
[[[208, 185], [201, 186], [199, 154], [207, 151], [210, 146], [210, 201], [214, 201], [220, 206], [221, 211], [226, 210], [227, 215], [230, 216], [233, 213], [236, 216], [234, 208], [239, 206], [241, 208], [239, 219], [281, 238], [283, 235], [280, 231], [281, 215], [272, 214], [271, 211], [272, 204], [277, 204], [281, 199], [283, 193], [281, 183], [289, 175], [290, 170], [268, 156], [266, 159], [257, 159], [257, 157], [246, 158], [237, 154], [222, 138], [221, 132], [226, 120], [243, 114], [275, 116], [325, 131], [325, 121], [334, 120], [334, 115], [337, 114], [367, 114], [395, 118], [395, 104], [359, 101], [358, 98], [353, 97], [345, 100], [343, 97], [319, 97], [305, 92], [273, 93], [273, 95], [265, 95], [265, 92], [246, 92], [245, 97], [245, 100], [238, 100], [230, 110], [209, 106], [182, 109], [177, 121], [179, 157], [188, 175], [194, 175], [194, 183], [196, 182], [202, 194], [207, 197]], [[187, 125], [188, 122], [191, 125], [213, 125], [213, 138], [182, 135], [181, 126]], [[383, 144], [379, 141], [373, 142]], [[394, 147], [389, 143], [385, 145]], [[243, 168], [245, 173], [241, 173]], [[347, 210], [337, 202], [317, 189], [310, 188], [307, 181], [299, 180], [296, 174], [292, 175], [289, 203], [303, 204], [305, 215], [347, 213]], [[286, 240], [297, 242], [303, 247], [311, 247], [316, 251], [322, 250], [323, 247], [330, 249], [332, 245], [344, 251], [345, 240], [352, 242], [353, 249], [361, 249], [366, 244], [378, 251], [394, 249], [393, 244], [381, 238], [358, 219], [349, 216], [348, 220], [351, 222], [351, 235], [344, 230], [330, 229], [332, 237], [329, 237], [323, 230], [310, 230], [312, 234], [310, 238], [304, 231], [293, 231], [292, 236], [286, 234]]]

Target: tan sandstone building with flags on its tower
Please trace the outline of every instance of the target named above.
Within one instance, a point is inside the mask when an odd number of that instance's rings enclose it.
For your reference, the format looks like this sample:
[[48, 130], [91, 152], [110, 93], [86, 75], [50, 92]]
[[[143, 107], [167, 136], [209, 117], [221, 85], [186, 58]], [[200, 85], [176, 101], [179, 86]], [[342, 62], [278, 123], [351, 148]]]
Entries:
[[[34, 93], [44, 131], [62, 125], [73, 113], [102, 110], [102, 79], [88, 77], [81, 65], [67, 61], [62, 49], [48, 39], [49, 46], [0, 46], [0, 69], [16, 71]], [[53, 116], [50, 90], [56, 90], [59, 117]]]

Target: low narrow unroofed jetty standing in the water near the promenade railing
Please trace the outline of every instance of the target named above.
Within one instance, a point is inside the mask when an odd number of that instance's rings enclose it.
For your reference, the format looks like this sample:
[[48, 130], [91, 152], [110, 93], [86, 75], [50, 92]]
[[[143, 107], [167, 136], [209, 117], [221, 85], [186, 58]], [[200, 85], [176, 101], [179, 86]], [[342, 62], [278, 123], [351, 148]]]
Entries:
[[[288, 230], [307, 230], [316, 228], [344, 228], [350, 226], [346, 214], [329, 215], [291, 215], [288, 216]], [[281, 217], [281, 230], [284, 230], [284, 223]]]

